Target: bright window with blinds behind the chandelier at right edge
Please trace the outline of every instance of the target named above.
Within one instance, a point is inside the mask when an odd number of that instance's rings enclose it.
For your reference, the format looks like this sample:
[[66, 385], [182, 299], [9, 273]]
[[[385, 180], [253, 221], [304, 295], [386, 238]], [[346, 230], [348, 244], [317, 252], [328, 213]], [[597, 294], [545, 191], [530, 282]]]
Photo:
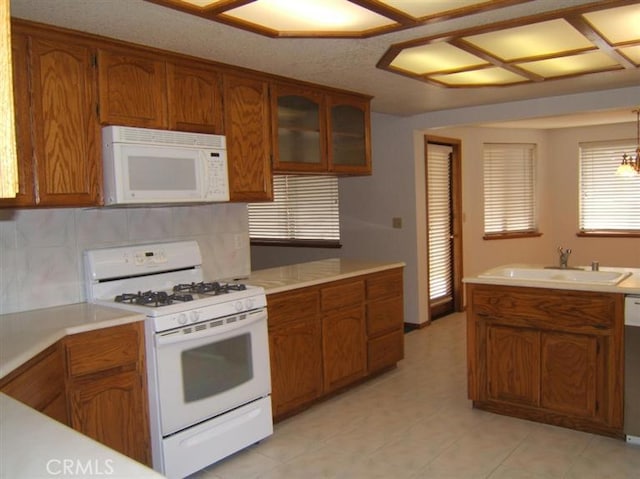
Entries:
[[632, 140], [581, 143], [580, 232], [640, 233], [640, 177], [617, 176]]

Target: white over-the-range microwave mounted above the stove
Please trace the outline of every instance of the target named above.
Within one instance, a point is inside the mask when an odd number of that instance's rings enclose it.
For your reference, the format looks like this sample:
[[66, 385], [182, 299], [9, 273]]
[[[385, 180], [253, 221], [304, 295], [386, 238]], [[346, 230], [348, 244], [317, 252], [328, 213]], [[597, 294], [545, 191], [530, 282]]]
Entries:
[[229, 201], [224, 136], [106, 126], [102, 160], [106, 205]]

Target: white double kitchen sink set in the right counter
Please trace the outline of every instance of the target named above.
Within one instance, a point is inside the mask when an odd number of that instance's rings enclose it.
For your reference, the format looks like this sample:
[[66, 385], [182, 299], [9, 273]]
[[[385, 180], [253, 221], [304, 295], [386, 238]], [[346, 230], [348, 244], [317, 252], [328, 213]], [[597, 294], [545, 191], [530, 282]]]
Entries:
[[629, 277], [624, 271], [591, 271], [583, 269], [550, 269], [499, 267], [478, 275], [479, 278], [509, 279], [514, 281], [549, 281], [554, 283], [616, 285]]

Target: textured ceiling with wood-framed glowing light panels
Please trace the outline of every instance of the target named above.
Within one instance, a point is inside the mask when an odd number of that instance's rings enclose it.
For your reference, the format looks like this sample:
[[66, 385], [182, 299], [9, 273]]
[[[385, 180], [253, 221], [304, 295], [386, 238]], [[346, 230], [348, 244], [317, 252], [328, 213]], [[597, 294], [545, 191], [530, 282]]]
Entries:
[[[11, 12], [366, 93], [393, 115], [640, 85], [639, 1], [287, 1], [11, 0]], [[293, 10], [304, 5], [311, 17]]]

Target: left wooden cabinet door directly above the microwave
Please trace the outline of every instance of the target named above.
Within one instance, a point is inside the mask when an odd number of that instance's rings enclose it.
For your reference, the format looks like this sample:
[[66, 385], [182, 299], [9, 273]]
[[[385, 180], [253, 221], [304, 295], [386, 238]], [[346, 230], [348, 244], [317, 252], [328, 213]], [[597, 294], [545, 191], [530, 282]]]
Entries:
[[100, 50], [100, 122], [167, 128], [167, 73], [164, 61]]

